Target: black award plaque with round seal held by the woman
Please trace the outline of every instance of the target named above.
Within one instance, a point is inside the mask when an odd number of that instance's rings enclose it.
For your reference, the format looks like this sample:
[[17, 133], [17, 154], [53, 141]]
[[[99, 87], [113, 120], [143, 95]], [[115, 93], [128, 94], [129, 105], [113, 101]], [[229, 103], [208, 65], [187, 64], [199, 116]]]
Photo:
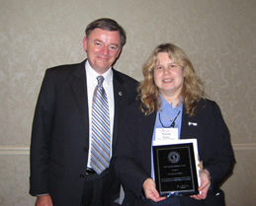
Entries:
[[161, 196], [199, 193], [193, 142], [153, 146], [153, 159], [156, 188]]

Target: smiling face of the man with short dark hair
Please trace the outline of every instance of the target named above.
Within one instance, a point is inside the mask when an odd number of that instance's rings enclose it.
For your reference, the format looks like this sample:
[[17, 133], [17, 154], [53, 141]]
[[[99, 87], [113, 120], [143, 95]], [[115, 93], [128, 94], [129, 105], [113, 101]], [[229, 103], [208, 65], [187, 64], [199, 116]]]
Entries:
[[122, 49], [118, 31], [93, 30], [84, 37], [84, 50], [91, 67], [99, 74], [105, 73], [115, 62]]

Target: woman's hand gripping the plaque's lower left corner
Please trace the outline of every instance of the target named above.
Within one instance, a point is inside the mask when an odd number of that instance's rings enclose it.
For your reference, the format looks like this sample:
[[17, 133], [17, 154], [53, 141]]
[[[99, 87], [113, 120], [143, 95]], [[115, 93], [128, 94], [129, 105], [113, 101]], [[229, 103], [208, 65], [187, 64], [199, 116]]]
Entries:
[[147, 178], [144, 181], [143, 189], [147, 199], [151, 199], [154, 202], [159, 202], [165, 199], [165, 197], [160, 197], [158, 191], [155, 188], [155, 182], [152, 178]]

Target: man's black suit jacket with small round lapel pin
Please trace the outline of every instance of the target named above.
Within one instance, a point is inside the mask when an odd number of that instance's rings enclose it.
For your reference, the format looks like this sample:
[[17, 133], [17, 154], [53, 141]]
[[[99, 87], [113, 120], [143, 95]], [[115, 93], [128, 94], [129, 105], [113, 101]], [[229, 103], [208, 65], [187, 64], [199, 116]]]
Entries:
[[[113, 72], [114, 149], [118, 123], [123, 109], [135, 100], [137, 82]], [[30, 193], [49, 193], [53, 205], [80, 205], [82, 198], [89, 149], [86, 85], [85, 61], [47, 69], [43, 78], [32, 130]], [[116, 180], [110, 172], [108, 195], [118, 193]]]

